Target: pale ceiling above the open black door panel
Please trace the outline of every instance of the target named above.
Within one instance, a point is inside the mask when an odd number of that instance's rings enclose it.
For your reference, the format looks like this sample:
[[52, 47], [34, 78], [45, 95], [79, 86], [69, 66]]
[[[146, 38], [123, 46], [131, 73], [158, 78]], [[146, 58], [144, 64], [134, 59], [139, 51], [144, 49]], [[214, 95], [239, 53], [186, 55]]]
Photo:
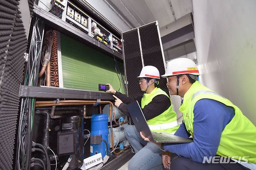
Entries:
[[191, 0], [104, 1], [105, 3], [110, 4], [113, 9], [116, 10], [121, 17], [123, 17], [128, 26], [132, 28], [136, 28], [157, 20], [161, 30], [161, 28], [168, 27], [168, 25], [175, 23], [176, 20], [186, 16], [193, 10]]

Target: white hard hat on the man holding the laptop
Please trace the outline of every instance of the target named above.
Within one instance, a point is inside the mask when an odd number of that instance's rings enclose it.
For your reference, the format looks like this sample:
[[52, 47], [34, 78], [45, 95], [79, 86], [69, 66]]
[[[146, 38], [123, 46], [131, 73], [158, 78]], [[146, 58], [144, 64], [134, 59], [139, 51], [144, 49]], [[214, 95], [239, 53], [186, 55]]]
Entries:
[[178, 58], [167, 62], [165, 74], [162, 77], [167, 78], [168, 76], [191, 74], [198, 75], [199, 71], [196, 63], [188, 58]]

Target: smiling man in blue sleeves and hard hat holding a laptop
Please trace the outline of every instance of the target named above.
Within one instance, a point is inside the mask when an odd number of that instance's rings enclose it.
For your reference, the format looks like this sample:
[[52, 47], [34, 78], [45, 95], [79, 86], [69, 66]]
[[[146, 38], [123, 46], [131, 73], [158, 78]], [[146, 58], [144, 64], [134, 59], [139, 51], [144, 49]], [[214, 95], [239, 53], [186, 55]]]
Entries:
[[[200, 84], [198, 68], [190, 59], [169, 61], [164, 78], [171, 95], [183, 97], [179, 110], [183, 123], [175, 135], [193, 142], [157, 144], [177, 154], [172, 161], [163, 155], [171, 170], [248, 170], [256, 169], [256, 127], [225, 97]], [[149, 141], [142, 134], [141, 137]]]

